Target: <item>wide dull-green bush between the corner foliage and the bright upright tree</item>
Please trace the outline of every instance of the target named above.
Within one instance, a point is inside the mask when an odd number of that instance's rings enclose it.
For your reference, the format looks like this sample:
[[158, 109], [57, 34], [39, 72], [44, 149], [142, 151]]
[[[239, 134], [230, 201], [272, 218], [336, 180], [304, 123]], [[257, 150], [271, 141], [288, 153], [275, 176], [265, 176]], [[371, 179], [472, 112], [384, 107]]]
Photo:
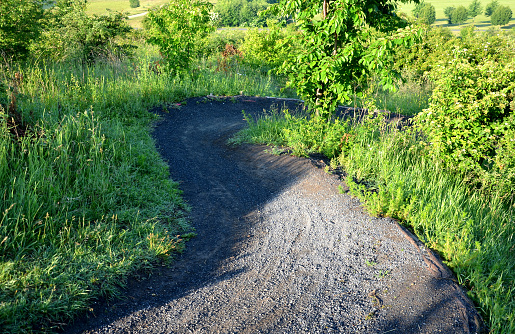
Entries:
[[108, 53], [127, 53], [130, 46], [116, 42], [132, 29], [122, 13], [86, 14], [86, 0], [59, 0], [47, 10], [46, 29], [32, 46], [41, 58], [92, 61]]

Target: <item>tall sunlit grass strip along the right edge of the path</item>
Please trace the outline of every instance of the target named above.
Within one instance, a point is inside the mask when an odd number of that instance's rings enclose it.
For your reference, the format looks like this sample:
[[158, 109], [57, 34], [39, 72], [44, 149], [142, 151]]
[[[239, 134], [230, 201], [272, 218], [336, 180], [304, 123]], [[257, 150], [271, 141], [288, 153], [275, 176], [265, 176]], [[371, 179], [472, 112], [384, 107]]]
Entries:
[[[468, 288], [492, 333], [515, 332], [515, 205], [502, 193], [472, 189], [461, 175], [444, 170], [425, 153], [416, 133], [381, 117], [331, 123], [321, 132], [314, 117], [265, 115], [249, 120], [236, 141], [288, 145], [293, 152], [334, 152], [351, 192], [371, 214], [397, 218], [452, 268]], [[336, 124], [336, 125], [335, 125]], [[305, 129], [302, 129], [305, 127]], [[311, 127], [318, 142], [290, 140]], [[344, 129], [345, 134], [340, 135]], [[321, 133], [320, 133], [321, 132]], [[330, 141], [335, 133], [341, 140]], [[305, 137], [305, 136], [304, 136]], [[310, 137], [310, 136], [308, 136]], [[312, 136], [311, 136], [312, 137]]]

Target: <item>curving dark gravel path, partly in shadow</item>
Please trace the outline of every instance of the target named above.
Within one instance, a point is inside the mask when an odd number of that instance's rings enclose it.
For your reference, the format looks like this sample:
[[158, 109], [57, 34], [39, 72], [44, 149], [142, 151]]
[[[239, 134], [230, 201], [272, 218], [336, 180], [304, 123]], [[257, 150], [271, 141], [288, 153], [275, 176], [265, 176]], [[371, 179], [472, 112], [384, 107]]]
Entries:
[[198, 236], [67, 333], [475, 333], [452, 274], [316, 159], [228, 147], [266, 98], [191, 99], [154, 136]]

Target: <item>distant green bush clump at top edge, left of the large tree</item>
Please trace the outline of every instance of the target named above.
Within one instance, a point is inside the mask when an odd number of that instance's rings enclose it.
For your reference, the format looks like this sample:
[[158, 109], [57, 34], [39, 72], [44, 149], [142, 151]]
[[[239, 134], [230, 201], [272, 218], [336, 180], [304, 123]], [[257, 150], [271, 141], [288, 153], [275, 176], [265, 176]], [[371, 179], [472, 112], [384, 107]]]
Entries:
[[220, 0], [215, 5], [222, 27], [262, 27], [270, 15], [258, 15], [269, 6], [266, 0]]

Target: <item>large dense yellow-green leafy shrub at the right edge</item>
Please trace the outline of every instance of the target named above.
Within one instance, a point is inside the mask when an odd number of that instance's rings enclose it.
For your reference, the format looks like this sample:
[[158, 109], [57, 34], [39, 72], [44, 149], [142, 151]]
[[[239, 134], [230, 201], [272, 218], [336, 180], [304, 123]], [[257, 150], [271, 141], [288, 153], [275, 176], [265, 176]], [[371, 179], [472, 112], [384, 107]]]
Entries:
[[457, 45], [433, 68], [430, 107], [415, 118], [434, 157], [486, 187], [515, 185], [515, 61], [506, 45], [502, 37]]

